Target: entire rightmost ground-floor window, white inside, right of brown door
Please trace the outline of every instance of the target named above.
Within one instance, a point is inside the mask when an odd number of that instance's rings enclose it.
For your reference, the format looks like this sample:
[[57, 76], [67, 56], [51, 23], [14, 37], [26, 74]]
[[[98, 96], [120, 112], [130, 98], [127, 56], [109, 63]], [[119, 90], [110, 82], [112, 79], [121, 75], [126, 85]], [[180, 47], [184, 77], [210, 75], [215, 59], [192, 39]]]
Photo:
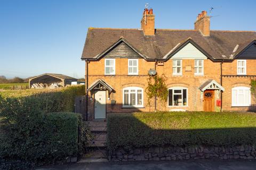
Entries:
[[250, 106], [251, 91], [249, 87], [232, 88], [232, 106]]

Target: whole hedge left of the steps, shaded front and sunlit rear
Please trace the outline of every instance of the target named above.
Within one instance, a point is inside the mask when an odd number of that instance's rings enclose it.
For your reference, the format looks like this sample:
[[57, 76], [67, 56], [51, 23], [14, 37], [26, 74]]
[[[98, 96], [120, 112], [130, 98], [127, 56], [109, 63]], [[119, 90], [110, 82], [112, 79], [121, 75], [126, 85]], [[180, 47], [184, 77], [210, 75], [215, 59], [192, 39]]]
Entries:
[[79, 154], [81, 115], [69, 112], [75, 96], [84, 92], [84, 86], [76, 86], [26, 97], [0, 96], [0, 169], [28, 169]]

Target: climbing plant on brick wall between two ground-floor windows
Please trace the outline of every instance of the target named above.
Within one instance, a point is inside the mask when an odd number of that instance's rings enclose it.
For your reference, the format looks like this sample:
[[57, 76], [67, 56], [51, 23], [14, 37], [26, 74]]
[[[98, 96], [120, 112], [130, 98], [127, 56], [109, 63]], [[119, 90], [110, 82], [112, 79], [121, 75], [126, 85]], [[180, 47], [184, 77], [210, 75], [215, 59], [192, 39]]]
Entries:
[[150, 99], [155, 96], [162, 101], [163, 104], [166, 103], [168, 98], [168, 89], [165, 84], [166, 77], [164, 74], [159, 75], [149, 75], [148, 86], [146, 88], [146, 94], [148, 97], [148, 104], [150, 105]]

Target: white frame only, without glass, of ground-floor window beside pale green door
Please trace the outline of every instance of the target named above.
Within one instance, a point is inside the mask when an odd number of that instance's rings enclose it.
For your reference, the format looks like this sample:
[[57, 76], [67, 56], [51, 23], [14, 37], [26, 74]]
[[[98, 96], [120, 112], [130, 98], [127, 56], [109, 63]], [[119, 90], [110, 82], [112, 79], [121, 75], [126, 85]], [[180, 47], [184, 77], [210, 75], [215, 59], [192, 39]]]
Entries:
[[[129, 105], [124, 105], [124, 90], [129, 90], [128, 92], [128, 101], [129, 101]], [[130, 105], [130, 94], [131, 94], [131, 90], [135, 90], [135, 105]], [[138, 90], [141, 90], [141, 105], [138, 105]], [[127, 108], [131, 108], [131, 107], [143, 107], [143, 89], [140, 87], [126, 87], [123, 88], [123, 107], [127, 107]]]

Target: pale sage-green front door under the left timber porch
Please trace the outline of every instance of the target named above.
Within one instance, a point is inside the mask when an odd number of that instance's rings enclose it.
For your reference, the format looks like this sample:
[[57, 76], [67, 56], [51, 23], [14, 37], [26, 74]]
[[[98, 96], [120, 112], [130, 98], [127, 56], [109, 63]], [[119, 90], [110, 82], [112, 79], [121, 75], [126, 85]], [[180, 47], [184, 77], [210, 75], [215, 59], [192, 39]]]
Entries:
[[106, 118], [106, 91], [95, 91], [94, 118]]

